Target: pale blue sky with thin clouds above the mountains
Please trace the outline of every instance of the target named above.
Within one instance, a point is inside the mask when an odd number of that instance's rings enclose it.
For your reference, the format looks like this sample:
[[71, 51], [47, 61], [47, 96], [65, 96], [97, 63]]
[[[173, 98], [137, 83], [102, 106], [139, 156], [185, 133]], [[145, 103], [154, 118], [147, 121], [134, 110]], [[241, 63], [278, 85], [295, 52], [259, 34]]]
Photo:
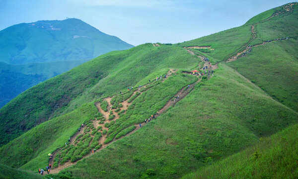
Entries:
[[132, 44], [178, 43], [244, 24], [289, 0], [0, 0], [0, 30], [75, 17]]

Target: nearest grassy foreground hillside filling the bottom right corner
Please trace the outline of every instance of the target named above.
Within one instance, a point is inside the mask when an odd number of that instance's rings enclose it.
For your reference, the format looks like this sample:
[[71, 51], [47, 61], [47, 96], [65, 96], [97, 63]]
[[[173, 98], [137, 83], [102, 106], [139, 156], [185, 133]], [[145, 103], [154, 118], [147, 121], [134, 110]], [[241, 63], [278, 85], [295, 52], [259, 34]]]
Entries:
[[298, 125], [295, 124], [182, 179], [296, 179], [297, 145]]

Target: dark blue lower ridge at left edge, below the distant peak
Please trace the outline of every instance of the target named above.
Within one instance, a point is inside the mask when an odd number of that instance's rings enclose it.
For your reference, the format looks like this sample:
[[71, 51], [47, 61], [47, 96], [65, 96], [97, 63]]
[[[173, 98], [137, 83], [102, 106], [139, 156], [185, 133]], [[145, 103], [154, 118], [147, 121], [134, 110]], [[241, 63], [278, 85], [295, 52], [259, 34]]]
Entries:
[[0, 62], [0, 108], [26, 89], [87, 61], [75, 60], [23, 65], [9, 65]]

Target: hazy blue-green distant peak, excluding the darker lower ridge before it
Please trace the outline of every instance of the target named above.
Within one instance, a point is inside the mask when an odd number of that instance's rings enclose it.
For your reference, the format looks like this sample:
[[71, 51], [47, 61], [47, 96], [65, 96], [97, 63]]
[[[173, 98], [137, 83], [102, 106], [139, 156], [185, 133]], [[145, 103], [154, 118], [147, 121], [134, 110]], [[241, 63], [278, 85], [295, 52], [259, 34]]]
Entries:
[[75, 18], [20, 23], [0, 31], [0, 62], [14, 65], [92, 59], [131, 47]]

